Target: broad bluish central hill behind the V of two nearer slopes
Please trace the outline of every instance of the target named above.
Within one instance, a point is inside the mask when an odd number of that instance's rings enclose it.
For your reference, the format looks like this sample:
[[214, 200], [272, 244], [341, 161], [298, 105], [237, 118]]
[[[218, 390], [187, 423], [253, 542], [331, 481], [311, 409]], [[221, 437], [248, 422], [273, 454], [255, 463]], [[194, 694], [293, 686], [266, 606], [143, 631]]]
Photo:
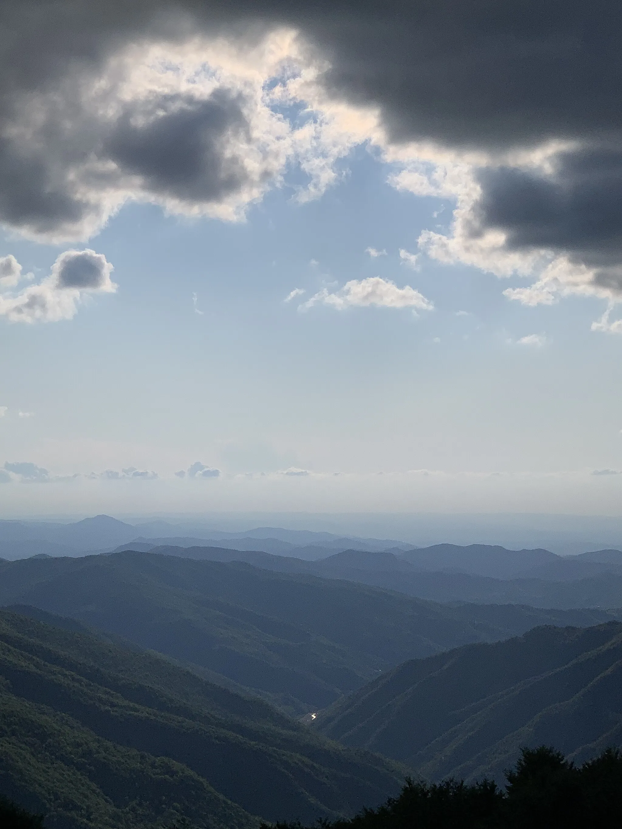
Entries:
[[143, 552], [0, 564], [0, 604], [29, 604], [128, 638], [296, 715], [381, 671], [598, 610], [448, 607], [338, 579]]

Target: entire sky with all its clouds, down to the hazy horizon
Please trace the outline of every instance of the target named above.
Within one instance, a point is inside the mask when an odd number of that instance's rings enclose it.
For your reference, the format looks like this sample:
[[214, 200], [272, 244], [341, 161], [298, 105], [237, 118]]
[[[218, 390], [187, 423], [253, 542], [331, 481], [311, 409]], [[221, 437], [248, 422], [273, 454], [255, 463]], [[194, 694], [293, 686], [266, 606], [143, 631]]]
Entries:
[[619, 4], [257, 5], [0, 6], [2, 516], [620, 515]]

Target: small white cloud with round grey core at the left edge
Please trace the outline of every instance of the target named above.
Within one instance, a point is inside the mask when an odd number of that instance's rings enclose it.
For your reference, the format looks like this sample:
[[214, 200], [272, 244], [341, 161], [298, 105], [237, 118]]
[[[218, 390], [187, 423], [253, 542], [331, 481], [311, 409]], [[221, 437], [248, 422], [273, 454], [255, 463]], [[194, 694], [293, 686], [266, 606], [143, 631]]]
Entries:
[[105, 256], [95, 250], [66, 250], [41, 283], [18, 293], [0, 293], [0, 316], [29, 323], [71, 319], [87, 297], [116, 290], [110, 279], [112, 269]]

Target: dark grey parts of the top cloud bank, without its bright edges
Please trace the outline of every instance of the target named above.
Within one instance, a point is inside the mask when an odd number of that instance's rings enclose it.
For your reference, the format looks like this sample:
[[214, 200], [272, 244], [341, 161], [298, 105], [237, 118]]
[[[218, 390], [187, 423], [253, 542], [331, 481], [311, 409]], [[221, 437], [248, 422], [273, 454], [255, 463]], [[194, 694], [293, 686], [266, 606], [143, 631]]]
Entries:
[[[510, 250], [547, 246], [578, 263], [620, 262], [622, 5], [614, 0], [5, 0], [0, 221], [40, 234], [88, 233], [102, 221], [101, 193], [127, 177], [140, 179], [145, 198], [192, 205], [272, 175], [267, 165], [251, 182], [243, 158], [226, 150], [248, 132], [246, 103], [234, 92], [152, 101], [151, 114], [127, 104], [103, 123], [85, 111], [80, 90], [129, 44], [201, 33], [252, 42], [278, 26], [297, 28], [309, 52], [327, 59], [319, 82], [328, 95], [380, 111], [392, 142], [492, 157], [578, 143], [552, 175], [481, 172], [473, 232], [501, 228]], [[36, 141], [2, 131], [56, 90], [54, 106], [37, 109]], [[90, 169], [94, 154], [102, 164]], [[76, 174], [92, 192], [72, 188]], [[596, 279], [618, 284], [615, 273]]]

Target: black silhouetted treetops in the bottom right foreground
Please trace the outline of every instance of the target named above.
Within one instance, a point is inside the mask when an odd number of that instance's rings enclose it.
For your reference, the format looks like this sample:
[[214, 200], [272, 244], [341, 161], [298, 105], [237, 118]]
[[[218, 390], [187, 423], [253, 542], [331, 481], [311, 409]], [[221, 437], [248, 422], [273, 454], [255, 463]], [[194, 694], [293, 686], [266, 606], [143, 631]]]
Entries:
[[[581, 766], [541, 746], [523, 749], [507, 785], [409, 780], [399, 797], [324, 829], [591, 829], [615, 827], [622, 815], [622, 754], [605, 749]], [[300, 824], [277, 824], [295, 829]], [[265, 827], [267, 829], [267, 827]]]

